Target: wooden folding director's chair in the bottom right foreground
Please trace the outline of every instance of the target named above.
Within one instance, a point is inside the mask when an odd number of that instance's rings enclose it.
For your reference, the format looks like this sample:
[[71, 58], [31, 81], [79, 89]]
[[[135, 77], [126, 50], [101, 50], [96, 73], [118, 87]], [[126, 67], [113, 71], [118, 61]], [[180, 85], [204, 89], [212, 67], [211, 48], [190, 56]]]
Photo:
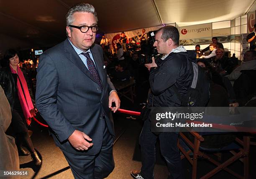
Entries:
[[[249, 148], [250, 148], [250, 137], [249, 135], [242, 133], [242, 139], [239, 139], [238, 137], [234, 137], [234, 140], [230, 142], [230, 144], [226, 144], [225, 146], [218, 147], [217, 149], [214, 148], [206, 148], [203, 147], [202, 144], [205, 144], [207, 136], [214, 137], [219, 135], [225, 135], [228, 133], [223, 134], [216, 134], [215, 132], [204, 132], [200, 135], [199, 132], [190, 131], [190, 132], [180, 132], [179, 133], [179, 140], [178, 140], [178, 148], [180, 149], [182, 155], [181, 159], [187, 158], [190, 164], [192, 164], [192, 179], [197, 178], [197, 159], [200, 157], [201, 159], [206, 159], [206, 161], [210, 161], [212, 164], [215, 164], [217, 167], [213, 169], [212, 171], [209, 171], [204, 176], [201, 176], [200, 179], [208, 179], [211, 176], [215, 175], [221, 170], [225, 170], [228, 173], [232, 174], [238, 179], [248, 179], [248, 154], [249, 154]], [[234, 134], [234, 133], [233, 133]], [[211, 136], [212, 135], [212, 136]], [[222, 136], [219, 136], [222, 137]], [[209, 138], [208, 138], [209, 139]], [[184, 147], [184, 142], [187, 144], [186, 147]], [[188, 150], [186, 150], [186, 148]], [[223, 152], [229, 151], [233, 156], [224, 161], [223, 163], [220, 163], [218, 161], [220, 159], [220, 155]], [[190, 155], [189, 155], [190, 154]], [[191, 154], [193, 154], [193, 157], [191, 157]], [[218, 156], [218, 160], [212, 159], [209, 154], [215, 154]], [[214, 157], [215, 158], [215, 157]], [[233, 162], [240, 160], [243, 162], [243, 176], [240, 174], [237, 174], [235, 171], [232, 171], [228, 168], [230, 164]]]

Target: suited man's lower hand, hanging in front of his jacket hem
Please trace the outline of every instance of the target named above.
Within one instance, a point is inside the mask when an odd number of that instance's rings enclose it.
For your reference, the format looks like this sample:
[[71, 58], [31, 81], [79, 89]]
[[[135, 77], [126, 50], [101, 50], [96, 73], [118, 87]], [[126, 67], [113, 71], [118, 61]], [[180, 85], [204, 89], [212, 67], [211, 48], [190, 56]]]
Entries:
[[81, 131], [75, 130], [68, 138], [70, 144], [77, 150], [88, 150], [93, 144], [92, 139]]

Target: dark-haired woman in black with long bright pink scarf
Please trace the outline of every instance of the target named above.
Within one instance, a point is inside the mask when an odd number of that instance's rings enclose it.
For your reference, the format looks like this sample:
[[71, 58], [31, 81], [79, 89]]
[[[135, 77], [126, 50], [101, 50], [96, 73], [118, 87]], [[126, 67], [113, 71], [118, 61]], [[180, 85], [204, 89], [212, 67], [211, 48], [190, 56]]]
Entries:
[[[27, 126], [31, 123], [31, 118], [36, 116], [36, 108], [31, 101], [26, 79], [18, 66], [18, 52], [12, 49], [8, 50], [5, 54], [5, 60], [9, 61], [9, 65], [0, 70], [0, 85], [5, 91], [5, 96], [8, 98], [12, 109], [12, 121], [8, 131], [11, 133], [10, 135], [16, 138], [18, 149], [23, 143], [28, 148], [34, 163], [40, 165], [41, 159], [28, 136]], [[22, 147], [21, 151], [25, 155], [29, 154], [26, 154]]]

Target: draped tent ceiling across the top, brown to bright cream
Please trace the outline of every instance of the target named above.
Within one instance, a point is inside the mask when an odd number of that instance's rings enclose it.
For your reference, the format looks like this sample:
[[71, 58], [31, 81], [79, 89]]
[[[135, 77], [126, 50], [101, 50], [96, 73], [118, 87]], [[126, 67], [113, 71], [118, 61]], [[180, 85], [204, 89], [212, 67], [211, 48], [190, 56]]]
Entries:
[[[256, 0], [87, 0], [102, 33], [176, 22], [192, 25], [229, 20], [255, 8]], [[81, 0], [0, 0], [0, 34], [38, 45], [65, 38], [65, 15]], [[159, 15], [159, 16], [158, 16]]]

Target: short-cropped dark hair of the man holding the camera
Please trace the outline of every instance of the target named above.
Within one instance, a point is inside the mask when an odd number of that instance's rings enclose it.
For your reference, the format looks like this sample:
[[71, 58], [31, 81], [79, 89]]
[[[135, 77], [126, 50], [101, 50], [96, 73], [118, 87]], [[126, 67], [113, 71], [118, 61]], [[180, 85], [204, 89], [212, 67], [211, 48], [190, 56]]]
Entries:
[[167, 25], [157, 30], [156, 33], [159, 32], [162, 32], [161, 39], [163, 39], [164, 42], [171, 38], [175, 45], [179, 45], [179, 30], [176, 27]]

